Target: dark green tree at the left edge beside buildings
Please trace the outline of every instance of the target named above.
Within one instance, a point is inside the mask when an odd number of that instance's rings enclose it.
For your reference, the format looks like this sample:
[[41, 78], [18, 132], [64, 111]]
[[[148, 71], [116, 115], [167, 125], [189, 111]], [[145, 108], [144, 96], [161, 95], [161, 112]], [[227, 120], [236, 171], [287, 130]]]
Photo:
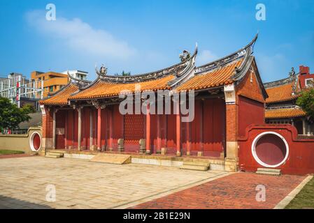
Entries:
[[19, 108], [13, 105], [8, 98], [0, 97], [0, 130], [18, 128], [23, 121], [29, 121], [28, 114], [34, 113], [35, 109], [31, 105], [24, 105]]

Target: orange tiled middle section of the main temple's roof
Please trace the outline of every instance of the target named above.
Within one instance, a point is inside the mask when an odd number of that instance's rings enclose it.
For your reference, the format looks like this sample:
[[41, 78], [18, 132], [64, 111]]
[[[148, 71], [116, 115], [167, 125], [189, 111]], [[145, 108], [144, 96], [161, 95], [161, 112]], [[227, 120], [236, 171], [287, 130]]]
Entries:
[[129, 84], [121, 84], [121, 83], [111, 83], [111, 82], [103, 82], [99, 81], [93, 86], [73, 95], [69, 99], [88, 99], [88, 98], [106, 98], [111, 96], [117, 96], [121, 91], [127, 90], [134, 93], [135, 86], [141, 86], [141, 91], [157, 91], [170, 89], [168, 86], [168, 82], [173, 79], [173, 75], [169, 75], [166, 77], [162, 77], [159, 79], [154, 79], [148, 82], [138, 82], [138, 83], [129, 83]]

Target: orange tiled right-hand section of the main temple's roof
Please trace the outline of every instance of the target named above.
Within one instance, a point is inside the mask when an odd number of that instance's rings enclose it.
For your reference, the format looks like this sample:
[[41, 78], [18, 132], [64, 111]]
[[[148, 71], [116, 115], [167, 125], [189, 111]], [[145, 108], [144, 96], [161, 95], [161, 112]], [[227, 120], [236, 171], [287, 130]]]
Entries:
[[182, 90], [197, 90], [197, 89], [208, 89], [213, 86], [220, 86], [224, 84], [230, 84], [234, 82], [231, 76], [234, 75], [234, 68], [240, 67], [243, 59], [234, 61], [227, 66], [210, 70], [205, 74], [196, 75], [190, 80], [178, 87], [178, 91]]

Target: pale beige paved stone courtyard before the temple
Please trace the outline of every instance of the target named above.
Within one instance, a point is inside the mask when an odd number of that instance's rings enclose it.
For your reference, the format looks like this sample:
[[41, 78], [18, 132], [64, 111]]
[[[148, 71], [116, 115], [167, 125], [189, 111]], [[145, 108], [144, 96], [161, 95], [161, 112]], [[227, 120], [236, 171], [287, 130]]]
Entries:
[[[1, 159], [0, 208], [129, 208], [226, 175], [66, 158]], [[47, 201], [53, 187], [56, 201]]]

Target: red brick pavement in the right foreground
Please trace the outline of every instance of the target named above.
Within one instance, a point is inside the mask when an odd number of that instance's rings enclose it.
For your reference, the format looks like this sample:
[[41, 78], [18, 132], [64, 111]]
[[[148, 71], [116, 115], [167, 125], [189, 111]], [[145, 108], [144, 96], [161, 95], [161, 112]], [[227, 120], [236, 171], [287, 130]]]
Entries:
[[[197, 208], [274, 208], [306, 176], [266, 176], [252, 173], [236, 173], [141, 203], [136, 209], [197, 209]], [[266, 201], [255, 197], [257, 185], [266, 187]]]

